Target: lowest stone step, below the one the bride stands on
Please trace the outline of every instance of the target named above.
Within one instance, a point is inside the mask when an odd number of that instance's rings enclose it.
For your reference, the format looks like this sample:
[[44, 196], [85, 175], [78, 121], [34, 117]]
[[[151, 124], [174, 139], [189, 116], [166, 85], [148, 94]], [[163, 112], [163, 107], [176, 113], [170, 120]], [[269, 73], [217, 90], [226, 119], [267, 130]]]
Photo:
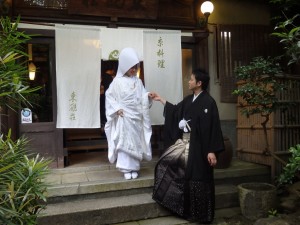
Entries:
[[[235, 185], [216, 186], [216, 209], [238, 206]], [[49, 204], [38, 224], [102, 225], [171, 215], [152, 200], [152, 192], [94, 197]]]

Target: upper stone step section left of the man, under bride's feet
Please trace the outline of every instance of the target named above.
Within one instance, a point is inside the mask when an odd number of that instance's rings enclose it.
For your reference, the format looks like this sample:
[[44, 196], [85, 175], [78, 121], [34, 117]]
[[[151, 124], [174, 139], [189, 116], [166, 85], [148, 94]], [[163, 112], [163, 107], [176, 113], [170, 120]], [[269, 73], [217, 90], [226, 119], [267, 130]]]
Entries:
[[135, 192], [136, 189], [152, 188], [154, 182], [152, 166], [142, 167], [138, 179], [125, 180], [123, 174], [114, 168], [102, 167], [81, 169], [81, 172], [72, 170], [70, 173], [57, 171], [48, 176], [47, 181], [52, 184], [48, 188], [48, 199], [75, 198], [81, 195], [112, 196], [117, 192], [120, 195]]

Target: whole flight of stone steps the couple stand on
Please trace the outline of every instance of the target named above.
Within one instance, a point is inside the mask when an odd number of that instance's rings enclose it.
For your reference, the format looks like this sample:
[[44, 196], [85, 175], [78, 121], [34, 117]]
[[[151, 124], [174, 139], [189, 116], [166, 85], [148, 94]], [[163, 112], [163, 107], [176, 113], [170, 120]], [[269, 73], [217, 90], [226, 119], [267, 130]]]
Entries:
[[[138, 179], [129, 181], [114, 165], [52, 171], [48, 205], [38, 224], [101, 225], [170, 215], [152, 200], [155, 164], [143, 163]], [[216, 169], [216, 209], [239, 206], [237, 184], [269, 177], [268, 167], [237, 159], [230, 168]]]

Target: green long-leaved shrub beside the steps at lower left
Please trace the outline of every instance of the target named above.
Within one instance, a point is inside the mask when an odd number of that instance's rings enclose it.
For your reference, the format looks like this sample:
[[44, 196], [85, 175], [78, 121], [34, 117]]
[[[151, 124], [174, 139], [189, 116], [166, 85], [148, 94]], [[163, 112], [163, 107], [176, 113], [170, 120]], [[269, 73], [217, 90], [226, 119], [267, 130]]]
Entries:
[[46, 203], [44, 177], [51, 162], [29, 153], [28, 141], [0, 137], [0, 224], [33, 225]]

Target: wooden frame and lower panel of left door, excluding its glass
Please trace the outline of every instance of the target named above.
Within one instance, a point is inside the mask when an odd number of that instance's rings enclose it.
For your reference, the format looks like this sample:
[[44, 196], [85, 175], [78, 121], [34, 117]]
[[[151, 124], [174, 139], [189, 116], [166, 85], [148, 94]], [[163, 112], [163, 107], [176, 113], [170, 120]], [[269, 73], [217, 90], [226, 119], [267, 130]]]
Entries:
[[26, 34], [38, 34], [28, 43], [49, 44], [49, 73], [52, 92], [52, 121], [34, 122], [21, 124], [18, 116], [19, 134], [29, 140], [29, 149], [41, 156], [52, 159], [51, 168], [64, 167], [63, 130], [56, 128], [57, 120], [57, 89], [56, 89], [56, 66], [55, 66], [55, 31], [24, 29]]

